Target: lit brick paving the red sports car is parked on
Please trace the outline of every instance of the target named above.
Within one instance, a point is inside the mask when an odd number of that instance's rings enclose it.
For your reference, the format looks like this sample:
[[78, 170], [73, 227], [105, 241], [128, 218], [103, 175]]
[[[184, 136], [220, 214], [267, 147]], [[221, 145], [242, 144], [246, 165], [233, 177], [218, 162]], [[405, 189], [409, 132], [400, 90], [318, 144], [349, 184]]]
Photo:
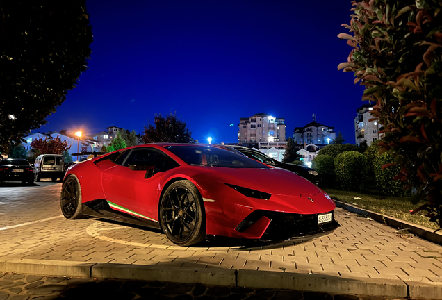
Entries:
[[205, 242], [178, 247], [155, 230], [100, 219], [65, 219], [60, 213], [60, 186], [0, 188], [0, 260], [257, 269], [442, 282], [441, 246], [401, 237], [394, 228], [340, 208], [336, 219], [341, 227], [308, 242], [260, 247]]

